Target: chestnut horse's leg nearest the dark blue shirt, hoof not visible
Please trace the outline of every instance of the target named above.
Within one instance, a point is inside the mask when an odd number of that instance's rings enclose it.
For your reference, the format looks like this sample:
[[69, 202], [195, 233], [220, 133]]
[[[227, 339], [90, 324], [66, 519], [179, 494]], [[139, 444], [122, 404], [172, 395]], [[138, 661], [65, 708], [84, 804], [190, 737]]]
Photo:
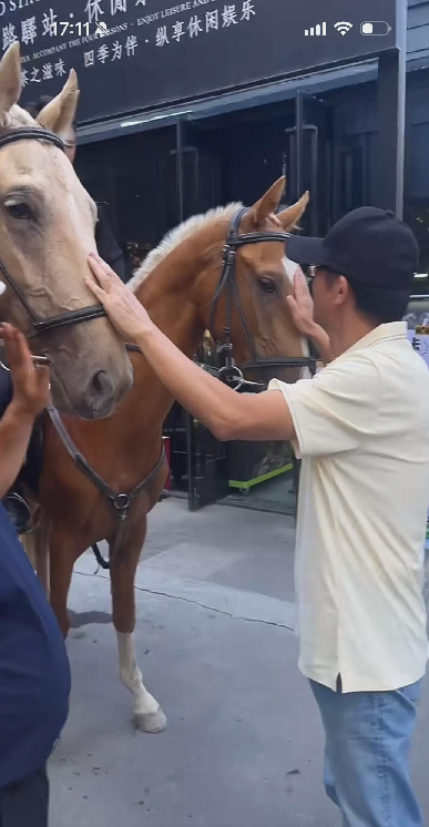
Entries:
[[50, 539], [51, 606], [59, 626], [64, 635], [70, 632], [70, 620], [67, 611], [73, 565], [79, 557], [75, 539], [60, 531], [52, 532]]

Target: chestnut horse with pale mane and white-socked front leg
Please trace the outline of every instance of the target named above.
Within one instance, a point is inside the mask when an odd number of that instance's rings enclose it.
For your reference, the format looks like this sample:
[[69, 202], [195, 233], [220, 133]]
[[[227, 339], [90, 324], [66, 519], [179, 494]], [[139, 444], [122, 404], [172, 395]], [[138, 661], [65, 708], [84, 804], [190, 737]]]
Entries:
[[[235, 306], [231, 314], [231, 339], [238, 361], [253, 355], [245, 328], [258, 357], [305, 356], [305, 343], [293, 325], [286, 302], [292, 284], [286, 273], [284, 231], [295, 226], [308, 196], [275, 217], [273, 213], [284, 185], [280, 178], [239, 223], [241, 234], [269, 233], [270, 241], [249, 243], [237, 252], [235, 284], [245, 324]], [[149, 255], [131, 285], [156, 325], [190, 357], [210, 327], [225, 241], [239, 206], [232, 204], [213, 210], [182, 224]], [[224, 338], [228, 315], [226, 295], [222, 292], [212, 319], [212, 333], [217, 341]], [[62, 418], [89, 464], [116, 492], [132, 491], [156, 468], [163, 422], [173, 404], [141, 354], [132, 354], [132, 364], [133, 389], [113, 416], [99, 422], [83, 422], [70, 416]], [[145, 539], [147, 513], [157, 502], [165, 476], [163, 463], [151, 484], [133, 500], [125, 531], [118, 543], [119, 523], [112, 503], [73, 463], [52, 423], [47, 425], [40, 484], [43, 517], [35, 540], [39, 560], [43, 558], [47, 539], [49, 541], [53, 610], [67, 634], [67, 599], [73, 564], [85, 549], [106, 539], [111, 552], [120, 674], [134, 695], [136, 727], [152, 733], [162, 731], [166, 718], [144, 687], [135, 660], [134, 574]]]

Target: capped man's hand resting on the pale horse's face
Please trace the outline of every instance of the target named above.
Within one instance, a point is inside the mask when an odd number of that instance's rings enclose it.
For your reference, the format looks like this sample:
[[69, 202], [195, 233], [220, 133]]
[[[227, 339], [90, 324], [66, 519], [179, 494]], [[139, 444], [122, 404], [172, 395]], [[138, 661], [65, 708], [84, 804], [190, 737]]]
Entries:
[[126, 287], [119, 276], [100, 256], [91, 254], [90, 267], [94, 279], [86, 278], [86, 284], [104, 306], [111, 321], [127, 341], [153, 327], [149, 314], [134, 293]]

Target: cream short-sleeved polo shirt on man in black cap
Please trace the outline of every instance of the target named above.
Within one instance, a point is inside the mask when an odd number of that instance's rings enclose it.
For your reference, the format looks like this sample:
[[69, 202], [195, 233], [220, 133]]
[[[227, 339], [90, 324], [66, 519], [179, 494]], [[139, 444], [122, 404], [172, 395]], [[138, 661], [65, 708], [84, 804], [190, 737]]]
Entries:
[[303, 459], [296, 592], [299, 667], [331, 690], [395, 690], [426, 671], [429, 371], [401, 321], [314, 379], [275, 379]]

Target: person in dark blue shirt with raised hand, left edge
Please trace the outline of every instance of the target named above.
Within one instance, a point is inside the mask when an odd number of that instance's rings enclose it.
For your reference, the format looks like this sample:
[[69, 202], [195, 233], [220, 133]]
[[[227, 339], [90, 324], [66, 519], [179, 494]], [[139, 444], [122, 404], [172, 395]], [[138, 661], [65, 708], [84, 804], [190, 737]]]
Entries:
[[[49, 400], [49, 369], [22, 334], [0, 326], [13, 396], [0, 420], [0, 498]], [[70, 667], [43, 589], [0, 504], [0, 827], [47, 827], [45, 764], [68, 717]]]

